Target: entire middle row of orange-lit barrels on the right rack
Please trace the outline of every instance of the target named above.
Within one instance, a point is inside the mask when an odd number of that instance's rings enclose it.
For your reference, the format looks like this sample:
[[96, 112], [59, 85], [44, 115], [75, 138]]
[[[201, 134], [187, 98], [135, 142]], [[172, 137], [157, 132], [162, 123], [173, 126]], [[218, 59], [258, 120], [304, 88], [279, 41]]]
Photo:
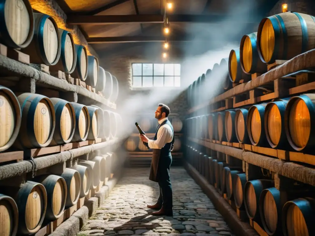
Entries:
[[314, 154], [315, 94], [224, 110], [186, 119], [191, 138], [239, 142]]

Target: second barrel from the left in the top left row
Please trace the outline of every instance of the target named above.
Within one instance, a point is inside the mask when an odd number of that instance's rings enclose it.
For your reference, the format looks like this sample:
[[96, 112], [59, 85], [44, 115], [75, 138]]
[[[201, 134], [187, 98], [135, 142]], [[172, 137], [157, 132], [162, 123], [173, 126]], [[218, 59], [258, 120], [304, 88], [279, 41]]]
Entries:
[[54, 18], [49, 15], [33, 14], [34, 37], [26, 48], [21, 48], [21, 51], [30, 55], [31, 63], [56, 65], [61, 53], [58, 26]]

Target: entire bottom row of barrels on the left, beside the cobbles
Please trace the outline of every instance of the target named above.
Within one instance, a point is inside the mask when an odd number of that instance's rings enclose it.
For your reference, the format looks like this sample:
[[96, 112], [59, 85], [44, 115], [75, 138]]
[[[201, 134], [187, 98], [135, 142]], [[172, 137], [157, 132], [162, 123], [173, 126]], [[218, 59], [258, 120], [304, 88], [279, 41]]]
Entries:
[[79, 160], [62, 174], [39, 175], [20, 186], [1, 186], [0, 235], [34, 234], [54, 221], [78, 199], [98, 191], [111, 178], [115, 154]]

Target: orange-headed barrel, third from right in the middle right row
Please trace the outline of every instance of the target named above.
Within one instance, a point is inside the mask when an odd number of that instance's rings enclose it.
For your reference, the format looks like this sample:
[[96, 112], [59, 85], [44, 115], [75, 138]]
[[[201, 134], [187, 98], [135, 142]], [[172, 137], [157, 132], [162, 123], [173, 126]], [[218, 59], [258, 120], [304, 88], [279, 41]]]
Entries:
[[266, 103], [251, 106], [247, 115], [247, 131], [249, 140], [254, 146], [266, 147], [265, 107]]

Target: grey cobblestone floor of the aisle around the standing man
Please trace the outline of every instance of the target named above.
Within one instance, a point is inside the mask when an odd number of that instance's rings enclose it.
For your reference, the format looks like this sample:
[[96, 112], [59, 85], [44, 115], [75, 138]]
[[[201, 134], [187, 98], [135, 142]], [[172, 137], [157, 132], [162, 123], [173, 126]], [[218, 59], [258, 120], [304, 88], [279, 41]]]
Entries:
[[233, 235], [222, 216], [182, 167], [170, 171], [173, 217], [151, 216], [146, 204], [155, 203], [158, 185], [148, 179], [149, 168], [125, 169], [105, 203], [77, 236]]

